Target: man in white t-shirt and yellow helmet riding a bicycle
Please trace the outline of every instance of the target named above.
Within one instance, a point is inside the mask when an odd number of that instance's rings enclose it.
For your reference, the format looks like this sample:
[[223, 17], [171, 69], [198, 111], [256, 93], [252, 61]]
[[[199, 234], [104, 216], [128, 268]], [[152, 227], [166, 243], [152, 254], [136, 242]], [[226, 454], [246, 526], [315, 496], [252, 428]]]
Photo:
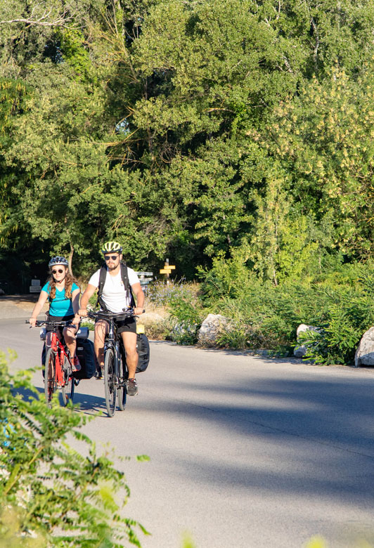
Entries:
[[[103, 244], [101, 252], [105, 259], [106, 277], [103, 285], [103, 291], [101, 293], [101, 309], [108, 312], [122, 312], [124, 308], [131, 306], [134, 301], [132, 300], [131, 293], [134, 294], [136, 299], [136, 306], [134, 306], [134, 313], [141, 315], [143, 313], [144, 293], [141, 289], [139, 278], [131, 268], [127, 267], [127, 275], [129, 279], [129, 286], [131, 289], [128, 291], [124, 287], [124, 282], [121, 276], [121, 260], [122, 260], [122, 246], [118, 242], [106, 242]], [[98, 289], [100, 284], [100, 271], [91, 276], [89, 285], [81, 298], [80, 308], [78, 314], [80, 316], [87, 315], [87, 304], [90, 297]], [[95, 346], [96, 358], [101, 370], [104, 368], [104, 341], [105, 334], [108, 333], [108, 322], [105, 320], [97, 320], [95, 323], [95, 337], [93, 344]], [[129, 370], [129, 379], [127, 380], [127, 393], [129, 396], [136, 396], [138, 393], [138, 386], [136, 384], [135, 372], [138, 365], [138, 352], [136, 351], [136, 321], [135, 318], [127, 318], [117, 322], [117, 333], [121, 334], [124, 349], [126, 351], [126, 363]]]

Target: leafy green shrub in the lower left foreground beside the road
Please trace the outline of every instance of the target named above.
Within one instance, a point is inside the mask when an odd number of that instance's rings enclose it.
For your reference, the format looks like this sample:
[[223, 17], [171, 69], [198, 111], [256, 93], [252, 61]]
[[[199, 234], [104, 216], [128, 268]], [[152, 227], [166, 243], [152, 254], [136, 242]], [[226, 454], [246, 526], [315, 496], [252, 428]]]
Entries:
[[[13, 535], [17, 546], [31, 547], [33, 533], [60, 548], [140, 546], [136, 529], [144, 529], [122, 513], [124, 474], [80, 431], [86, 418], [58, 403], [46, 407], [32, 371], [11, 377], [4, 353], [0, 373], [1, 539]], [[67, 434], [85, 448], [72, 449]]]

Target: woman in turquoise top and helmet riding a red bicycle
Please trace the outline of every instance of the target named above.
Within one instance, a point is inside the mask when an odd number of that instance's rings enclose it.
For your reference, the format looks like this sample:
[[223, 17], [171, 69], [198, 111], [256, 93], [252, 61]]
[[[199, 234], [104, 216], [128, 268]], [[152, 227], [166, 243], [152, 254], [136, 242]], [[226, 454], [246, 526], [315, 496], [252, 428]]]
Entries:
[[[47, 299], [49, 299], [49, 311], [47, 313], [47, 320], [51, 322], [72, 320], [75, 324], [74, 327], [64, 327], [63, 337], [67, 348], [70, 351], [72, 357], [72, 369], [73, 371], [79, 371], [81, 366], [79, 359], [77, 358], [76, 349], [77, 341], [75, 334], [79, 329], [79, 322], [74, 320], [75, 314], [79, 310], [79, 295], [80, 289], [76, 283], [75, 278], [69, 273], [67, 268], [68, 263], [65, 257], [52, 257], [49, 261], [49, 278], [46, 281], [44, 287], [41, 288], [39, 299], [34, 306], [30, 318], [30, 325], [35, 327], [37, 316], [41, 312]], [[51, 334], [53, 330], [51, 325], [46, 325], [46, 344], [51, 345]]]

